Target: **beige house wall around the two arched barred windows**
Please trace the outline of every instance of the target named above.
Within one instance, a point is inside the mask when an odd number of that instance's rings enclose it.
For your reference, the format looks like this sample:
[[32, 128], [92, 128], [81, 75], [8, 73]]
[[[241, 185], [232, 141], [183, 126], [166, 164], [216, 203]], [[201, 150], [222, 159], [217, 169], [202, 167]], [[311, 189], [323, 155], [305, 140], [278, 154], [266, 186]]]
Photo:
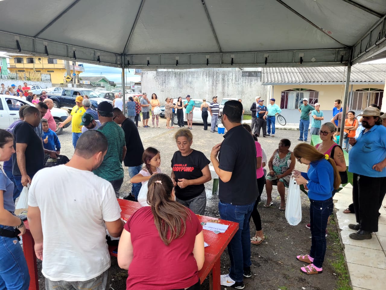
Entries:
[[[281, 92], [284, 90], [302, 88], [302, 89], [311, 89], [319, 92], [318, 94], [318, 102], [320, 103], [320, 110], [323, 111], [324, 122], [329, 122], [332, 118], [332, 108], [334, 107], [334, 101], [336, 99], [344, 99], [344, 87], [342, 85], [273, 85], [267, 86], [270, 90], [273, 90], [269, 96], [273, 96], [276, 99], [276, 104], [280, 106], [281, 102]], [[385, 85], [381, 84], [354, 84], [352, 85], [352, 90], [359, 89], [385, 89]], [[343, 90], [342, 90], [343, 89]], [[350, 85], [351, 90], [351, 85]], [[383, 102], [386, 102], [386, 96], [383, 98]], [[361, 113], [362, 111], [354, 110], [356, 114]], [[281, 113], [284, 118], [286, 118], [287, 123], [299, 123], [300, 113], [297, 109], [282, 109]]]

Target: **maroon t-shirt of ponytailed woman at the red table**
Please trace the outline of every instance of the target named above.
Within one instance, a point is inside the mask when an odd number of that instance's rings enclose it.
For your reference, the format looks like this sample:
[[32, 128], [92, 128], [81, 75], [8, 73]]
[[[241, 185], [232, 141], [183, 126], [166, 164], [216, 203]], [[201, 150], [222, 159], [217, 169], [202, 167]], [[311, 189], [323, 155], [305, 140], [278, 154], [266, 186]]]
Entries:
[[[189, 210], [189, 209], [188, 209]], [[134, 257], [129, 266], [126, 289], [164, 290], [188, 288], [198, 281], [193, 248], [202, 226], [191, 211], [185, 234], [166, 246], [159, 237], [150, 206], [137, 210], [124, 229], [130, 232]]]

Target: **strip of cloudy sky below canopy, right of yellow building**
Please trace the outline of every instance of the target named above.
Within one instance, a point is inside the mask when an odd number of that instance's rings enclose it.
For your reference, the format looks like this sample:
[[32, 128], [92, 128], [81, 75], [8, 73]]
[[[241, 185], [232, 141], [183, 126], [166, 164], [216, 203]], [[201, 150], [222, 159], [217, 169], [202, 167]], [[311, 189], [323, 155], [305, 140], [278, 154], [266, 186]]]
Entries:
[[[79, 76], [86, 77], [102, 77], [108, 78], [112, 82], [122, 82], [122, 69], [114, 67], [103, 67], [102, 65], [90, 65], [89, 63], [84, 63], [85, 71], [82, 72]], [[127, 82], [140, 82], [141, 76], [134, 75], [134, 69], [125, 70], [126, 81]]]

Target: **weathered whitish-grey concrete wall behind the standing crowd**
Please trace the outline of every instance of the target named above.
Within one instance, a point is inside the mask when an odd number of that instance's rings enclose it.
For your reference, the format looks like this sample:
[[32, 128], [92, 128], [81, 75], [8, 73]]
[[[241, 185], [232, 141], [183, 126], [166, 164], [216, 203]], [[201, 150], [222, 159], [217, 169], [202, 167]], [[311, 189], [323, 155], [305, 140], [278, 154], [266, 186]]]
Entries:
[[161, 104], [167, 97], [212, 100], [218, 96], [218, 102], [224, 98], [242, 99], [245, 113], [256, 96], [266, 99], [267, 87], [261, 84], [261, 72], [242, 70], [225, 71], [144, 71], [142, 70], [142, 92], [151, 97], [156, 93]]

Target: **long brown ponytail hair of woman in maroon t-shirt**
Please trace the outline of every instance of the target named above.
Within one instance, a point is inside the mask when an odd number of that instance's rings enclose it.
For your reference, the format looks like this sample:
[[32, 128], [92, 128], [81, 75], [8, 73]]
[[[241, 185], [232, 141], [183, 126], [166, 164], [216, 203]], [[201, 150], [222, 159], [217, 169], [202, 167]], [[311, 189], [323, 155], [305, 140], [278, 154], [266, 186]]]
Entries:
[[[185, 234], [188, 208], [171, 199], [173, 182], [163, 173], [154, 174], [147, 183], [147, 203], [151, 206], [159, 237], [168, 246]], [[168, 237], [169, 235], [169, 237]]]

